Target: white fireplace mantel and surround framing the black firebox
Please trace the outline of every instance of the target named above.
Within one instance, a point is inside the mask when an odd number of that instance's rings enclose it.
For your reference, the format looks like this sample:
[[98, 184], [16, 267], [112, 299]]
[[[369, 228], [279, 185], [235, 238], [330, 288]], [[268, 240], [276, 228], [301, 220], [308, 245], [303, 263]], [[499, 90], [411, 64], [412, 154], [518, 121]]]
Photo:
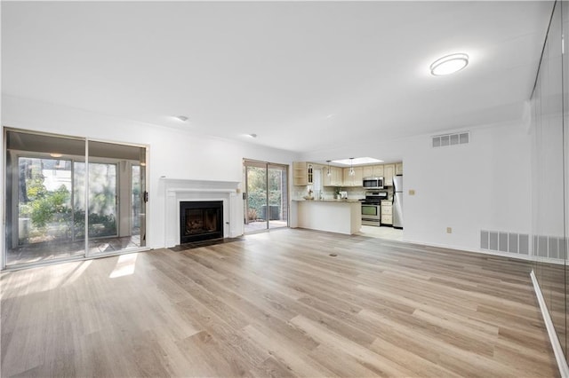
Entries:
[[160, 178], [164, 184], [166, 248], [180, 244], [180, 201], [223, 201], [223, 237], [243, 235], [243, 200], [238, 181]]

